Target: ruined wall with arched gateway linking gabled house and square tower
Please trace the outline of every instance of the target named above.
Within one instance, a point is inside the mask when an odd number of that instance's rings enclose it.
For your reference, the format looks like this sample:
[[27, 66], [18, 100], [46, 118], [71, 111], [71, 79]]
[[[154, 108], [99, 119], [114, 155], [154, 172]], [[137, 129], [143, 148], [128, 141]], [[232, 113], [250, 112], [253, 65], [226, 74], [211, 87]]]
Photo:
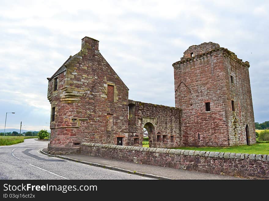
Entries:
[[180, 108], [129, 100], [128, 120], [129, 145], [142, 147], [143, 128], [149, 134], [149, 147], [182, 145]]

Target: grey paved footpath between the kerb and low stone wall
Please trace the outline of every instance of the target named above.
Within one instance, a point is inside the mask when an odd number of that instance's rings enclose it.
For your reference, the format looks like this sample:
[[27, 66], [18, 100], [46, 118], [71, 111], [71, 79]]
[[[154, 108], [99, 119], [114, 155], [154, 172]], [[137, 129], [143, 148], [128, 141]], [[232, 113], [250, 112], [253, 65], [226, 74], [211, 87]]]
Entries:
[[[44, 152], [47, 152], [47, 148], [43, 149]], [[181, 170], [181, 169], [174, 169], [169, 167], [161, 167], [161, 166], [151, 166], [146, 164], [137, 164], [134, 162], [127, 162], [121, 161], [116, 159], [106, 159], [106, 158], [99, 158], [99, 157], [92, 157], [87, 155], [80, 155], [80, 154], [69, 154], [69, 155], [59, 155], [59, 157], [64, 157], [66, 159], [74, 159], [77, 162], [88, 162], [92, 163], [93, 165], [99, 165], [100, 167], [111, 168], [115, 167], [117, 169], [123, 169], [120, 171], [130, 172], [130, 173], [143, 173], [149, 174], [149, 177], [155, 175], [159, 179], [245, 179], [239, 177], [232, 177], [226, 175], [216, 175], [216, 174], [209, 174], [209, 173], [201, 173], [195, 171], [188, 171], [188, 170]]]

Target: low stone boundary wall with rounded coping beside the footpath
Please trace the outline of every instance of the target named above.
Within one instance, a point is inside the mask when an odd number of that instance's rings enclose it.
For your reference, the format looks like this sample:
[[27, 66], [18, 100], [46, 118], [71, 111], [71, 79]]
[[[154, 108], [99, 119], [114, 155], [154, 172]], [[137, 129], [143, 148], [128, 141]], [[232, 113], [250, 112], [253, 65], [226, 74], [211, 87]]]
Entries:
[[82, 143], [81, 154], [203, 173], [269, 178], [269, 155]]

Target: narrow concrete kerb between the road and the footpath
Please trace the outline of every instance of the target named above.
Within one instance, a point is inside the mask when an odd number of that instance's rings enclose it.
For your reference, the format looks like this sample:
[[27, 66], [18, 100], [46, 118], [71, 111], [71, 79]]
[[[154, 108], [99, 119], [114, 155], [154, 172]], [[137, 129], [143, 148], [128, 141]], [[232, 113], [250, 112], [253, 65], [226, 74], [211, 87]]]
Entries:
[[65, 157], [65, 156], [51, 155], [51, 154], [48, 154], [48, 153], [44, 152], [43, 150], [40, 150], [40, 152], [42, 154], [45, 154], [45, 155], [50, 156], [50, 157], [57, 157], [57, 158], [65, 159], [65, 160], [68, 160], [68, 161], [74, 161], [74, 162], [87, 164], [87, 165], [90, 165], [90, 166], [107, 168], [107, 169], [116, 170], [116, 171], [120, 171], [120, 172], [124, 172], [124, 173], [128, 173], [128, 174], [135, 174], [135, 175], [139, 175], [139, 176], [142, 176], [142, 177], [149, 177], [149, 178], [153, 178], [153, 179], [161, 179], [161, 180], [169, 179], [169, 180], [171, 180], [168, 177], [162, 177], [162, 176], [148, 174], [148, 173], [134, 172], [134, 171], [131, 171], [131, 170], [128, 170], [128, 169], [122, 169], [122, 168], [118, 168], [118, 167], [107, 166], [107, 165], [102, 165], [102, 164], [93, 163], [93, 162], [80, 161], [80, 160], [77, 160], [77, 159], [74, 159], [74, 158], [68, 158], [68, 157]]

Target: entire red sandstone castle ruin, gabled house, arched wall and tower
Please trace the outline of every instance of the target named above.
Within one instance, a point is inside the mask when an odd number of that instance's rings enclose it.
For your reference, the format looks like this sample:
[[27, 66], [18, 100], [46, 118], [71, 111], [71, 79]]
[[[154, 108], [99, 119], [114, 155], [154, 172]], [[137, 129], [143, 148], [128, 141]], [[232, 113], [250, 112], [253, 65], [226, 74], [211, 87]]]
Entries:
[[149, 147], [256, 143], [248, 61], [209, 42], [189, 47], [173, 67], [175, 107], [129, 100], [99, 41], [84, 37], [47, 78], [48, 150], [75, 153], [82, 142], [142, 146], [143, 128]]

